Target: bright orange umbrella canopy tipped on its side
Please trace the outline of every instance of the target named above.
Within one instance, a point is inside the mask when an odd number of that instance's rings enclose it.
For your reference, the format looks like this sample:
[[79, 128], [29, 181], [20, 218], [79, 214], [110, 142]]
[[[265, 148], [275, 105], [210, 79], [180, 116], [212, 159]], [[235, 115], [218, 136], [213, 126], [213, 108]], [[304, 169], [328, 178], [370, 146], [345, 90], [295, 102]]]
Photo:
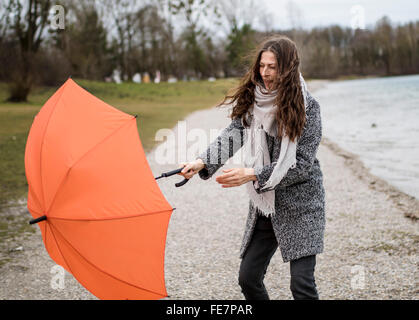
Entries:
[[100, 299], [160, 299], [173, 208], [136, 117], [68, 79], [35, 117], [25, 151], [28, 210], [50, 257]]

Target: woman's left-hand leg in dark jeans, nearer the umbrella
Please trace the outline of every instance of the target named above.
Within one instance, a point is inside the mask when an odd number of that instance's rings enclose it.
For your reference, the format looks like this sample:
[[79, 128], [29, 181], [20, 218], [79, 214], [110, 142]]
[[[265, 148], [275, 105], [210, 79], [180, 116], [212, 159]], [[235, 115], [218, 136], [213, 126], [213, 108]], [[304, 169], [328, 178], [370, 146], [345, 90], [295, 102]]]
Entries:
[[263, 278], [277, 248], [271, 219], [258, 217], [252, 240], [240, 264], [239, 285], [246, 300], [269, 300]]

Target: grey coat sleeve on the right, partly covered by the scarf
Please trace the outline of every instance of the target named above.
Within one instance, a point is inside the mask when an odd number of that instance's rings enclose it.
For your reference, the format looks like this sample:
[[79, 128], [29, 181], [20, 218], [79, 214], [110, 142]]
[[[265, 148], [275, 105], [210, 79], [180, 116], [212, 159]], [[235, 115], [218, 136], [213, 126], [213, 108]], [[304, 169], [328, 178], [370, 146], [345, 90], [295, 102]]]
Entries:
[[[288, 170], [287, 174], [284, 178], [282, 178], [280, 183], [275, 186], [275, 190], [308, 180], [311, 167], [313, 166], [316, 158], [317, 149], [320, 145], [321, 137], [322, 124], [320, 105], [313, 97], [310, 96], [306, 112], [306, 124], [304, 126], [303, 133], [297, 142], [297, 165], [295, 168]], [[276, 160], [277, 159], [278, 157], [276, 157]], [[266, 184], [269, 180], [275, 164], [276, 161], [272, 162], [270, 165], [255, 168], [255, 174], [258, 179], [257, 183], [254, 183], [256, 192], [262, 193], [272, 190], [265, 189], [261, 191], [260, 189], [263, 188], [264, 184]]]

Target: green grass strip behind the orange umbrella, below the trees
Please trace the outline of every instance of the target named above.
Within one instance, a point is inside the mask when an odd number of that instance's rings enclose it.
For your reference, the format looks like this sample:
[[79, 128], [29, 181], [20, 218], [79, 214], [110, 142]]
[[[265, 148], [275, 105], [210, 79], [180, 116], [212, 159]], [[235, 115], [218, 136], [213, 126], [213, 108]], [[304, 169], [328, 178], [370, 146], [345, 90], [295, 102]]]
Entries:
[[[106, 103], [138, 115], [138, 131], [146, 151], [155, 145], [157, 130], [172, 128], [189, 113], [214, 106], [237, 85], [235, 79], [171, 84], [75, 81]], [[7, 84], [0, 83], [0, 212], [6, 203], [27, 195], [26, 139], [34, 116], [57, 89], [37, 87], [27, 103], [8, 103]]]

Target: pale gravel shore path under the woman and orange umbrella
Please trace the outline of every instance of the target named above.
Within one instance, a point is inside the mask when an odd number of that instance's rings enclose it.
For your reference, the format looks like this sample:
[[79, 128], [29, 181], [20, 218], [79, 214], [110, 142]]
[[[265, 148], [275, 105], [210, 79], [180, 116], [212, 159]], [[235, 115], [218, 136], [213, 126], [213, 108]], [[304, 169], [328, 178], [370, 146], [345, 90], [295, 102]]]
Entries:
[[[325, 84], [308, 83], [314, 97]], [[188, 131], [204, 129], [209, 136], [211, 129], [228, 125], [227, 115], [227, 109], [197, 111], [183, 124]], [[155, 176], [174, 169], [173, 164], [157, 163], [156, 149], [147, 157]], [[317, 157], [327, 217], [325, 248], [317, 256], [315, 273], [320, 298], [418, 299], [419, 202], [372, 176], [355, 155], [327, 137]], [[219, 174], [221, 170], [215, 176]], [[182, 179], [158, 180], [176, 208], [166, 241], [168, 299], [243, 299], [237, 278], [248, 212], [245, 187], [222, 189], [215, 177], [203, 181], [195, 176], [176, 188], [174, 183]], [[25, 201], [9, 210], [30, 219]], [[1, 252], [9, 261], [0, 269], [0, 299], [96, 299], [68, 273], [64, 288], [57, 288], [58, 269], [45, 251], [39, 228], [33, 228], [34, 233], [7, 242]], [[271, 299], [292, 299], [289, 282], [289, 264], [277, 251], [265, 278]]]

